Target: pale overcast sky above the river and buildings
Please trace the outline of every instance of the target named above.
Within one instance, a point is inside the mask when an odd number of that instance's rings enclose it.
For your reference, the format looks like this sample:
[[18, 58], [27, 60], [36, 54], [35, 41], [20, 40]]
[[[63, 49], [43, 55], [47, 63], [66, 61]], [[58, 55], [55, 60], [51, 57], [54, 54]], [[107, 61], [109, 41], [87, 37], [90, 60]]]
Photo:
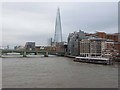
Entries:
[[54, 36], [58, 7], [64, 41], [69, 33], [79, 29], [88, 33], [118, 32], [117, 2], [4, 2], [3, 45], [25, 45], [27, 41], [46, 45], [48, 39]]

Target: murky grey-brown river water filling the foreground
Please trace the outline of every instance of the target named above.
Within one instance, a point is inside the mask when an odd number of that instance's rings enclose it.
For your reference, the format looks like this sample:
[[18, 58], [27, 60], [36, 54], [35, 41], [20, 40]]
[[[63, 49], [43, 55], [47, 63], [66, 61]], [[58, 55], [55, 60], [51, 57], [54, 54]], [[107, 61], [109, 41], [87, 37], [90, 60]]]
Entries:
[[118, 88], [118, 65], [34, 56], [2, 59], [3, 88]]

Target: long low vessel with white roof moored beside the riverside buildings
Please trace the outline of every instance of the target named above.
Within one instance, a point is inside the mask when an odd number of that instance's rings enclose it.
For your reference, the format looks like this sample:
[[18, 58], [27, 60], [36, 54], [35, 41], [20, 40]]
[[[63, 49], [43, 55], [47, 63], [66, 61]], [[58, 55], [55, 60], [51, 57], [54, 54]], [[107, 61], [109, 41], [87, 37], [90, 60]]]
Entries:
[[102, 57], [75, 57], [76, 62], [85, 62], [85, 63], [95, 63], [95, 64], [105, 64], [111, 65], [113, 64], [112, 60], [109, 58]]

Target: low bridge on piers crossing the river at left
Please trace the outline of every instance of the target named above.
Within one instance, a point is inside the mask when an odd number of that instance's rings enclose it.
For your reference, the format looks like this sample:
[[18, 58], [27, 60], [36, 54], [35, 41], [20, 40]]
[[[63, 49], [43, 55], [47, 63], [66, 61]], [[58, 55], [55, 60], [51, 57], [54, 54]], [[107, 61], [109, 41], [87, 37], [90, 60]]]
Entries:
[[31, 53], [34, 53], [34, 55], [44, 55], [45, 57], [48, 57], [48, 55], [61, 55], [64, 56], [64, 52], [58, 52], [58, 51], [48, 51], [48, 50], [13, 50], [13, 49], [1, 49], [0, 50], [0, 57], [2, 55], [7, 55], [8, 53], [20, 53], [20, 55], [23, 55], [23, 57], [27, 57], [27, 55], [30, 55]]

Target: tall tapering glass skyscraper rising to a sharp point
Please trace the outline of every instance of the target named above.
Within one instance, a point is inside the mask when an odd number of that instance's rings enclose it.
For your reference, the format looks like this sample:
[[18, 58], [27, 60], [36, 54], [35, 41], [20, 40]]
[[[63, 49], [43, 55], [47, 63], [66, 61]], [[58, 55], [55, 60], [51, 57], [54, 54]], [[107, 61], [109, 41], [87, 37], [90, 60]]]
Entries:
[[54, 35], [54, 43], [62, 42], [62, 27], [61, 27], [61, 18], [60, 18], [60, 10], [57, 9], [57, 16], [55, 22], [55, 35]]

